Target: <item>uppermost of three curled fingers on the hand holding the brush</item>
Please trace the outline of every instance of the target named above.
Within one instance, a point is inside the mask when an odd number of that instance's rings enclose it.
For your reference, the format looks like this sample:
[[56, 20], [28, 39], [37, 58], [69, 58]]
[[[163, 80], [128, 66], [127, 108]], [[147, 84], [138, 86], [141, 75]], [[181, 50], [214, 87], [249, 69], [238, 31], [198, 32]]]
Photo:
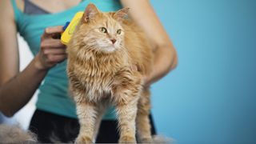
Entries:
[[41, 42], [42, 48], [66, 47], [59, 39], [48, 38]]

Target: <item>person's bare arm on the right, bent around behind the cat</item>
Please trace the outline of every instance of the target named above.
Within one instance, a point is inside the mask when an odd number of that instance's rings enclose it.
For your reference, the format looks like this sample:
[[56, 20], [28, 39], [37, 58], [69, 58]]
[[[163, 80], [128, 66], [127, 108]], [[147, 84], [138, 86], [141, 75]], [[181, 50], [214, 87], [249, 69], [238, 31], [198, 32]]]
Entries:
[[154, 71], [146, 76], [146, 84], [158, 81], [177, 66], [176, 50], [166, 34], [149, 0], [121, 0], [130, 8], [130, 18], [144, 30], [154, 48]]

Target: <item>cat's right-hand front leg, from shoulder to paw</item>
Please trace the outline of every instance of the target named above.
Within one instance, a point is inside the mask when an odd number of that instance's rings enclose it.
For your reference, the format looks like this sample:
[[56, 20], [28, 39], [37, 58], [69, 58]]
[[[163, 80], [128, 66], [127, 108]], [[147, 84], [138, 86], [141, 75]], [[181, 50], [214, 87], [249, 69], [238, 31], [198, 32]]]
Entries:
[[118, 115], [119, 143], [136, 143], [135, 118], [138, 110], [138, 98], [142, 91], [142, 78], [130, 71], [117, 74], [114, 86], [114, 101]]

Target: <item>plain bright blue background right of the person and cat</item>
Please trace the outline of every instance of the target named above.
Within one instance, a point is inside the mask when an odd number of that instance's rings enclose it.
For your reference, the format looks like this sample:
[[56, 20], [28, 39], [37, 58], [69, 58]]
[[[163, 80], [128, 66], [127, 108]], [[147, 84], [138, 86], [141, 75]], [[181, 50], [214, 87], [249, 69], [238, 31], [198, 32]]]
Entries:
[[179, 60], [152, 87], [158, 133], [178, 143], [256, 143], [256, 1], [151, 4]]

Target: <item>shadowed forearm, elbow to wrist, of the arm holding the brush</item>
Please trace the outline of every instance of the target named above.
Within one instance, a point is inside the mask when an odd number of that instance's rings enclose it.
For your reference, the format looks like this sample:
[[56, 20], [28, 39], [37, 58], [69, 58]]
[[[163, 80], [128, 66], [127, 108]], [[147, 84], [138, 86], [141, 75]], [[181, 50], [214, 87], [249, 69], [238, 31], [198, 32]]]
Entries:
[[25, 70], [0, 87], [0, 111], [8, 117], [30, 101], [46, 76], [47, 70], [40, 70], [36, 58], [26, 66]]

